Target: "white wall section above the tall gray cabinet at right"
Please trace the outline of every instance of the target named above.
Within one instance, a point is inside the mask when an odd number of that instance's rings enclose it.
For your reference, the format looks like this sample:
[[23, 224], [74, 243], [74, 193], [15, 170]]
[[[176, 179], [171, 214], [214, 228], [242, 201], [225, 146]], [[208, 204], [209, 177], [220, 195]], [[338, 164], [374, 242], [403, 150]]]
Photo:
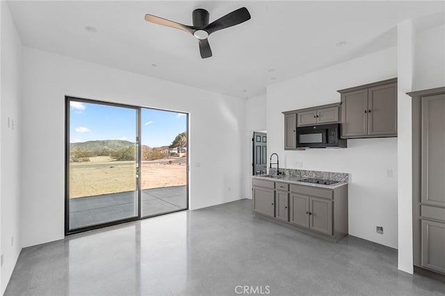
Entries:
[[445, 25], [416, 32], [413, 90], [445, 85]]

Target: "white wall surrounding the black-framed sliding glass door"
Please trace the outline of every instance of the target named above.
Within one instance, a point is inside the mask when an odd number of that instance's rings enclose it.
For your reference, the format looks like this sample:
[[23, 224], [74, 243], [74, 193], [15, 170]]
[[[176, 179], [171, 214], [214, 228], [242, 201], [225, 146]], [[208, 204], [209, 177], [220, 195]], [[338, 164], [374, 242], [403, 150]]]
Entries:
[[25, 47], [24, 247], [64, 236], [65, 94], [190, 113], [191, 209], [242, 197], [243, 99]]

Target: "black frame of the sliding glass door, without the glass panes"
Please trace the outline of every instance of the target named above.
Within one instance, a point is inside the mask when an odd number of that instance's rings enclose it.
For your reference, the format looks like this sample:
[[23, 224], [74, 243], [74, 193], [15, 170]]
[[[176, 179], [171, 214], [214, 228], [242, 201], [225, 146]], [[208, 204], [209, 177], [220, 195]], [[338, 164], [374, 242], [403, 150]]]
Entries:
[[[105, 106], [114, 106], [114, 107], [120, 107], [120, 108], [129, 108], [136, 110], [136, 192], [138, 194], [138, 198], [136, 200], [136, 217], [128, 217], [123, 218], [120, 220], [115, 220], [111, 222], [105, 222], [100, 224], [94, 224], [87, 227], [79, 227], [76, 229], [70, 230], [70, 102], [71, 101], [79, 101], [83, 103], [88, 104], [97, 104], [97, 105], [105, 105]], [[142, 115], [142, 108], [146, 109], [152, 109], [152, 110], [162, 110], [166, 112], [177, 112], [177, 113], [183, 113], [186, 115], [186, 139], [187, 139], [187, 154], [186, 154], [186, 208], [181, 208], [176, 211], [170, 211], [165, 213], [159, 213], [155, 215], [149, 215], [149, 216], [142, 216], [142, 181], [141, 181], [141, 169], [142, 169], [142, 144], [140, 142], [140, 134], [142, 132], [142, 126], [141, 126], [141, 115]], [[116, 224], [122, 224], [127, 222], [133, 222], [137, 220], [143, 220], [150, 217], [156, 217], [159, 215], [165, 215], [169, 213], [176, 213], [180, 211], [186, 211], [188, 210], [188, 181], [189, 181], [189, 145], [188, 145], [188, 113], [181, 112], [181, 111], [174, 111], [174, 110], [165, 110], [160, 108], [150, 108], [150, 107], [142, 107], [142, 106], [133, 106], [133, 105], [127, 105], [127, 104], [117, 104], [112, 103], [108, 101], [98, 101], [94, 99], [84, 99], [80, 97], [72, 97], [72, 96], [66, 96], [65, 95], [65, 236], [68, 236], [70, 234], [79, 233], [83, 231], [89, 231], [93, 229], [99, 229], [103, 227], [109, 227]]]

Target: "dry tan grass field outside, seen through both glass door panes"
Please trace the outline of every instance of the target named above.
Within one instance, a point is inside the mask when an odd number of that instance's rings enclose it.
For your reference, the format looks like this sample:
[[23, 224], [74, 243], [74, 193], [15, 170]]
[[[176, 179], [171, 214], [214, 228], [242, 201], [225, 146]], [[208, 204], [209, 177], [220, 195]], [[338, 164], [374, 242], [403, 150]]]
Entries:
[[[186, 158], [143, 161], [140, 178], [142, 189], [185, 185]], [[136, 190], [134, 161], [113, 161], [109, 156], [96, 156], [88, 163], [70, 163], [70, 198], [131, 190]]]

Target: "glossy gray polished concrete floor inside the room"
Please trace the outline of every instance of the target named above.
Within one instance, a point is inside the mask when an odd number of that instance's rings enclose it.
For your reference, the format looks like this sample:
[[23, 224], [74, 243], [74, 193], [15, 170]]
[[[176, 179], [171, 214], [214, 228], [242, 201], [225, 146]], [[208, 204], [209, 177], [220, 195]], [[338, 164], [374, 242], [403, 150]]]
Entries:
[[243, 199], [25, 248], [5, 295], [237, 295], [238, 286], [270, 295], [445, 294], [440, 281], [398, 271], [395, 249], [316, 238], [255, 217]]

